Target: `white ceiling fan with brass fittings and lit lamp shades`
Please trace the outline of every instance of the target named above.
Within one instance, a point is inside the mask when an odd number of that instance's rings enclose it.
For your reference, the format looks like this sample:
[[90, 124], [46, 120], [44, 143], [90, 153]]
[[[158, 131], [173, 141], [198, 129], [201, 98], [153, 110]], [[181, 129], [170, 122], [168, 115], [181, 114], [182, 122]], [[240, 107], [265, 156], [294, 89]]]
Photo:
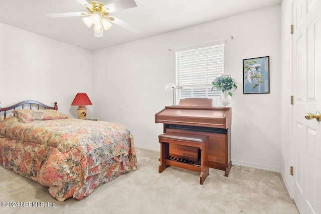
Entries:
[[82, 4], [87, 8], [88, 12], [71, 12], [71, 13], [56, 13], [47, 14], [51, 18], [62, 18], [62, 17], [77, 17], [86, 16], [82, 20], [90, 28], [94, 24], [94, 35], [95, 37], [102, 37], [103, 30], [108, 30], [111, 27], [111, 23], [115, 23], [133, 33], [140, 33], [141, 30], [126, 23], [116, 17], [109, 16], [110, 13], [115, 11], [120, 11], [128, 8], [137, 7], [134, 0], [118, 0], [113, 1], [110, 4], [104, 4], [98, 1], [86, 1], [86, 0], [76, 0], [78, 3]]

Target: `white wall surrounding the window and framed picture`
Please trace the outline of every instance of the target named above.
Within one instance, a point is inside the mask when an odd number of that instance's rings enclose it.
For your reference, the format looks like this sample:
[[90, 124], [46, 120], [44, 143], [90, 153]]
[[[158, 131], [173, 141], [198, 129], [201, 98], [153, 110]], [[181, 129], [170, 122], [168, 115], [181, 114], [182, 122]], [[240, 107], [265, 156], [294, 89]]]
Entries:
[[[225, 72], [239, 81], [231, 102], [232, 161], [279, 171], [280, 21], [275, 6], [93, 52], [94, 117], [126, 125], [136, 145], [158, 150], [163, 125], [154, 114], [172, 104], [165, 84], [175, 82], [175, 50], [226, 40]], [[270, 56], [270, 93], [243, 94], [242, 60], [261, 56]]]

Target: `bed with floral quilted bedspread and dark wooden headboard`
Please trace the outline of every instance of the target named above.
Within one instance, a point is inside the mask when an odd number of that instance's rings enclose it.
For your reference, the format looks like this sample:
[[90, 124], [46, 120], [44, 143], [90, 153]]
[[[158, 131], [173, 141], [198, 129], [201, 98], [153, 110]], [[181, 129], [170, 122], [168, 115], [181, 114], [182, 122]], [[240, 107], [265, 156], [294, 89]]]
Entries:
[[49, 187], [59, 201], [83, 199], [137, 169], [134, 140], [121, 124], [72, 119], [38, 101], [0, 107], [0, 163]]

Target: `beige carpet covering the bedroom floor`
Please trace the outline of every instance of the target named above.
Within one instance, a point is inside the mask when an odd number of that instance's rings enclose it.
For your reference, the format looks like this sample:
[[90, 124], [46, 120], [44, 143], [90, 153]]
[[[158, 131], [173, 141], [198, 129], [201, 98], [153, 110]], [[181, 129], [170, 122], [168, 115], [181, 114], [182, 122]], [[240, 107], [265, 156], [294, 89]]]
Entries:
[[[0, 213], [298, 213], [276, 172], [232, 166], [229, 177], [169, 167], [158, 173], [159, 152], [136, 148], [138, 169], [104, 184], [83, 200], [59, 202], [47, 187], [0, 165], [1, 202], [44, 202], [54, 207], [0, 207]], [[31, 203], [30, 203], [31, 204]]]

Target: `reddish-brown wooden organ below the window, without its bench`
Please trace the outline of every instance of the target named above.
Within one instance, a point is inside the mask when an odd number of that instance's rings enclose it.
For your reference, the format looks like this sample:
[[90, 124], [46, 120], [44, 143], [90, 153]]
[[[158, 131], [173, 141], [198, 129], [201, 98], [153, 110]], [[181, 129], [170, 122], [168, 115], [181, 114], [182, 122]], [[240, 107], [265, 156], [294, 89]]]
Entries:
[[[208, 166], [225, 171], [231, 169], [231, 108], [212, 106], [212, 99], [181, 99], [178, 106], [166, 106], [155, 114], [155, 123], [164, 124], [164, 133], [176, 132], [209, 136]], [[170, 155], [198, 163], [198, 148], [170, 145]]]

